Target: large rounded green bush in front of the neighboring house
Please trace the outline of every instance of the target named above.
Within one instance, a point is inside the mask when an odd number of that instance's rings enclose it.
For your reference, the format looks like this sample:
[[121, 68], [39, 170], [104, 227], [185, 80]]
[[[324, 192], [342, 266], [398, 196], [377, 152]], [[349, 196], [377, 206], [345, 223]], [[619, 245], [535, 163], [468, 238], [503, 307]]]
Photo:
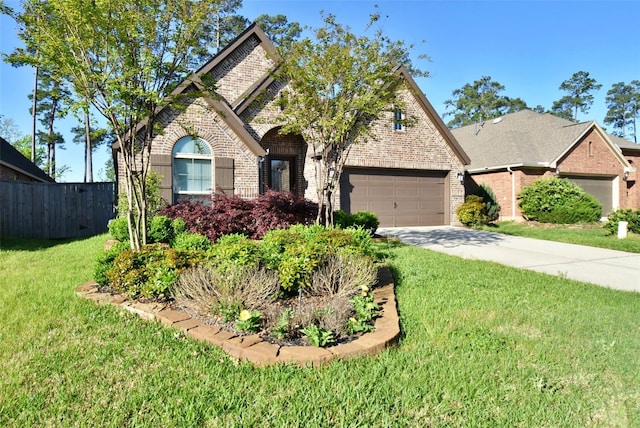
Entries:
[[602, 206], [577, 184], [558, 177], [541, 178], [520, 192], [518, 202], [528, 220], [542, 223], [593, 223]]

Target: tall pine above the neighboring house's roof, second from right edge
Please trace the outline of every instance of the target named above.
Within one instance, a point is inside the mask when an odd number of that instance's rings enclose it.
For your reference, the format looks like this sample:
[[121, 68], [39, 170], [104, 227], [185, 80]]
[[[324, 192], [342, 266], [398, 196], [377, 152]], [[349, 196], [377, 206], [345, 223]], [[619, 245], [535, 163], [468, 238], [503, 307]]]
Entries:
[[560, 84], [560, 90], [568, 94], [554, 101], [551, 106], [551, 113], [556, 116], [578, 121], [578, 111], [587, 114], [593, 104], [593, 95], [591, 92], [597, 91], [602, 87], [596, 80], [589, 76], [586, 71], [578, 71], [573, 73], [570, 79]]

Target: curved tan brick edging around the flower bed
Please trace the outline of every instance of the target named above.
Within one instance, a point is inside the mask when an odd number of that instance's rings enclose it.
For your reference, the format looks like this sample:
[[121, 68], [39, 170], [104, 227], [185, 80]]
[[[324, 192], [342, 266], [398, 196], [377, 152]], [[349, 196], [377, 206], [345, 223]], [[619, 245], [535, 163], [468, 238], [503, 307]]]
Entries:
[[373, 289], [374, 301], [380, 305], [375, 329], [359, 338], [341, 345], [327, 348], [315, 346], [283, 346], [266, 342], [258, 334], [239, 336], [204, 324], [183, 311], [168, 309], [162, 303], [140, 303], [128, 300], [120, 294], [101, 293], [98, 284], [90, 281], [76, 287], [76, 295], [100, 304], [111, 304], [138, 314], [147, 320], [157, 320], [164, 325], [177, 328], [186, 335], [222, 348], [230, 357], [246, 360], [256, 366], [278, 363], [297, 363], [300, 366], [318, 366], [335, 359], [349, 359], [375, 355], [388, 346], [393, 346], [400, 337], [400, 322], [391, 271], [383, 267], [378, 271], [378, 285]]

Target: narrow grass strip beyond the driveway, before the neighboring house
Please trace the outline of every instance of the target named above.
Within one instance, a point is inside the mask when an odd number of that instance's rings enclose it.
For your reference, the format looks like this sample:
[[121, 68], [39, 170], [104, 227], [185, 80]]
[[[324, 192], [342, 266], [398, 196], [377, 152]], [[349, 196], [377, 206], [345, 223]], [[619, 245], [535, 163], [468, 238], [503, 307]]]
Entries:
[[608, 235], [607, 231], [602, 227], [538, 225], [502, 221], [495, 225], [484, 226], [482, 229], [490, 232], [505, 233], [507, 235], [525, 236], [527, 238], [568, 242], [570, 244], [640, 253], [640, 235], [628, 233], [625, 239], [618, 239], [617, 235]]

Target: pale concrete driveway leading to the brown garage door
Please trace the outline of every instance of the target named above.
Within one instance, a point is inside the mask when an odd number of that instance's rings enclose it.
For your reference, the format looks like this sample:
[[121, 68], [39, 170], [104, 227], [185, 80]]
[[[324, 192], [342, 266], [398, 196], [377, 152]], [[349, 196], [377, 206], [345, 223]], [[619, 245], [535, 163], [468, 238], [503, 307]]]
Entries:
[[467, 259], [640, 292], [640, 254], [522, 238], [462, 227], [391, 227], [377, 233]]

